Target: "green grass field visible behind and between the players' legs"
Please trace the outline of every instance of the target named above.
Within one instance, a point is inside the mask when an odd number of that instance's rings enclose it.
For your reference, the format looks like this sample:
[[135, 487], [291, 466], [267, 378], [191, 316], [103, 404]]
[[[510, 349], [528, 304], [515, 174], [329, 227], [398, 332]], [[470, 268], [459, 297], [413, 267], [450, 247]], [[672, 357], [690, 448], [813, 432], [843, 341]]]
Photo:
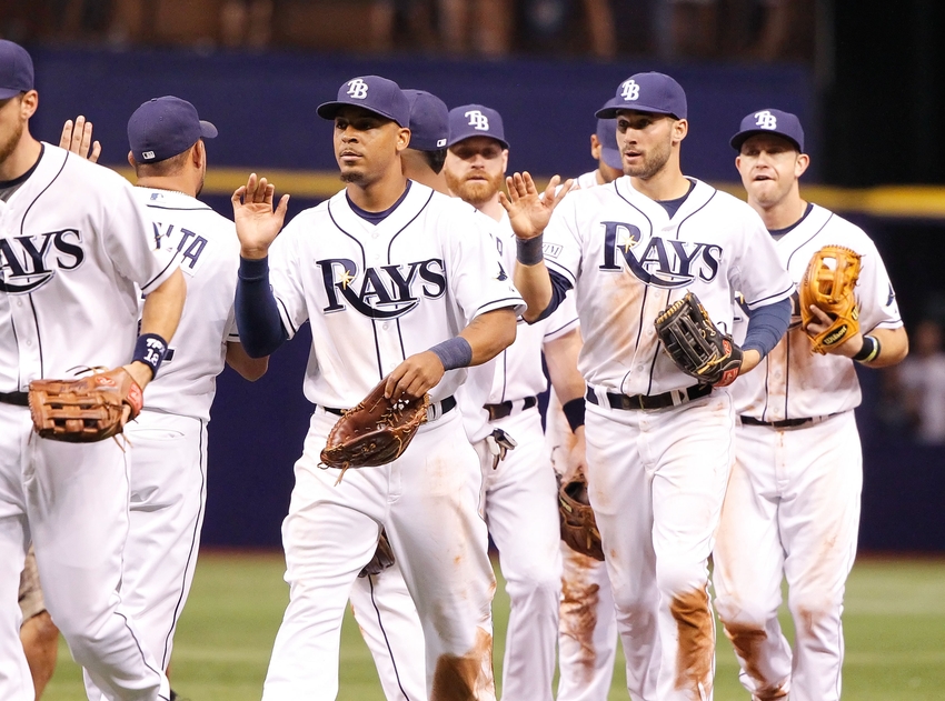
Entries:
[[[173, 687], [191, 701], [258, 701], [287, 588], [278, 554], [201, 555], [176, 638]], [[496, 678], [501, 678], [508, 599], [496, 597]], [[850, 575], [846, 612], [846, 701], [945, 698], [945, 561], [871, 560]], [[619, 662], [618, 655], [618, 662]], [[617, 664], [610, 700], [627, 699]], [[718, 645], [717, 701], [747, 701], [737, 663]], [[350, 615], [341, 641], [341, 701], [382, 701], [367, 648]], [[64, 644], [46, 701], [81, 701], [81, 671]], [[299, 700], [305, 701], [305, 700]]]

